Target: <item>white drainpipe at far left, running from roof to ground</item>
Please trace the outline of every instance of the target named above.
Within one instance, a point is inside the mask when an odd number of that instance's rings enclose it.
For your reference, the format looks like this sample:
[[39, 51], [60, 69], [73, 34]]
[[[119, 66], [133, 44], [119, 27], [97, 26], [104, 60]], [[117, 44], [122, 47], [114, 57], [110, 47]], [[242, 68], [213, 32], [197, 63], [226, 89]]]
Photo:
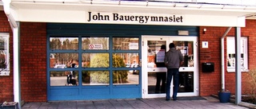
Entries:
[[20, 85], [20, 73], [19, 73], [19, 33], [18, 23], [14, 20], [13, 15], [10, 13], [10, 2], [11, 0], [2, 0], [3, 9], [10, 23], [10, 27], [13, 32], [13, 57], [14, 57], [14, 102], [18, 103], [18, 108], [21, 107], [21, 85]]

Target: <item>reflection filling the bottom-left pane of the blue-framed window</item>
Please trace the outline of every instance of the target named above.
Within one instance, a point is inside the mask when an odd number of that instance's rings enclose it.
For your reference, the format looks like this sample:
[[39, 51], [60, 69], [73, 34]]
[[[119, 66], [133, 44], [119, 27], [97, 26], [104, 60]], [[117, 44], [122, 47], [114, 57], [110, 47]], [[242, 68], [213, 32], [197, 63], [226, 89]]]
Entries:
[[[68, 84], [70, 82], [70, 84]], [[50, 86], [76, 86], [78, 85], [78, 71], [51, 71]]]

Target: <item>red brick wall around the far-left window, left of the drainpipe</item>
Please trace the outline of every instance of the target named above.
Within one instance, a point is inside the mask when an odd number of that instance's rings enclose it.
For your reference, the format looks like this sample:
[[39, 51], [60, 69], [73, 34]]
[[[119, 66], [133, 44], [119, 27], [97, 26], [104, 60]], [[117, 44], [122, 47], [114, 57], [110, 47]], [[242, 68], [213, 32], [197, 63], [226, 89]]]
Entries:
[[[12, 52], [12, 31], [10, 29], [10, 24], [7, 20], [6, 14], [0, 11], [0, 33], [10, 33], [10, 68], [13, 64], [13, 52]], [[0, 103], [4, 101], [14, 101], [14, 75], [13, 69], [10, 69], [10, 76], [0, 76]]]

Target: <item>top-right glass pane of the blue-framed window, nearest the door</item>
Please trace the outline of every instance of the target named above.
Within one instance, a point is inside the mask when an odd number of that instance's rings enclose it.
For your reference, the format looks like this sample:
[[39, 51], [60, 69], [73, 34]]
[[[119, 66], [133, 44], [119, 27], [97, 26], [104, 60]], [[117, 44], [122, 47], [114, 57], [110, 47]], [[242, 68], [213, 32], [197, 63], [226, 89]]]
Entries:
[[138, 37], [114, 37], [113, 49], [115, 50], [138, 49]]

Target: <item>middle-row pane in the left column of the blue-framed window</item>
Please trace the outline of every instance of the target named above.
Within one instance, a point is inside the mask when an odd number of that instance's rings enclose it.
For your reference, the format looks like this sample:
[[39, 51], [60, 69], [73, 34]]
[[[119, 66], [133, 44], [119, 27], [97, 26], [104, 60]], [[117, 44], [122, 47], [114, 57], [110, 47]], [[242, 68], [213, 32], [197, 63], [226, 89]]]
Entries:
[[78, 68], [78, 53], [50, 53], [50, 68]]

